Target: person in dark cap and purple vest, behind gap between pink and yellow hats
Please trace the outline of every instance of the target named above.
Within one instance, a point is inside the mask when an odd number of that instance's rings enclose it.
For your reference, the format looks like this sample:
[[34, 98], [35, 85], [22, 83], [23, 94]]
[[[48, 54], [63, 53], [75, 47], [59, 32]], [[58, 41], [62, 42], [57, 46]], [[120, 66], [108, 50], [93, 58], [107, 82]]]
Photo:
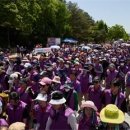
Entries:
[[98, 111], [102, 109], [102, 96], [103, 96], [103, 88], [100, 84], [99, 77], [96, 76], [93, 79], [93, 85], [91, 85], [88, 89], [88, 100], [94, 102]]

